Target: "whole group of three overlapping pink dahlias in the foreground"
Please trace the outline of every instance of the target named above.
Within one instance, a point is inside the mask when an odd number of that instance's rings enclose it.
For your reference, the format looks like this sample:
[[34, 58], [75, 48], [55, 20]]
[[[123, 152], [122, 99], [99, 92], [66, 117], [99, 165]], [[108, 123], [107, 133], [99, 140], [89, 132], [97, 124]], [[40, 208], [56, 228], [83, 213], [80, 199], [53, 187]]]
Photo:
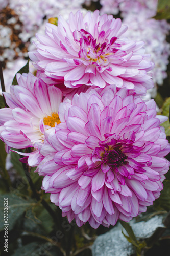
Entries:
[[154, 100], [143, 42], [111, 15], [80, 11], [47, 24], [29, 53], [38, 68], [4, 93], [0, 137], [28, 148], [42, 189], [78, 226], [129, 221], [160, 195], [170, 152]]

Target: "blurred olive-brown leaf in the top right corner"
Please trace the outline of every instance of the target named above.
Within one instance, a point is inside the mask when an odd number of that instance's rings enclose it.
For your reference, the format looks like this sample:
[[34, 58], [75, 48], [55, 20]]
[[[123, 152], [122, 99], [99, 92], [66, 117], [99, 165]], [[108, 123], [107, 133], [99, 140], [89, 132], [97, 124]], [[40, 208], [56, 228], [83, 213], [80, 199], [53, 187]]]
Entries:
[[153, 18], [169, 19], [170, 18], [170, 1], [158, 0], [157, 13]]

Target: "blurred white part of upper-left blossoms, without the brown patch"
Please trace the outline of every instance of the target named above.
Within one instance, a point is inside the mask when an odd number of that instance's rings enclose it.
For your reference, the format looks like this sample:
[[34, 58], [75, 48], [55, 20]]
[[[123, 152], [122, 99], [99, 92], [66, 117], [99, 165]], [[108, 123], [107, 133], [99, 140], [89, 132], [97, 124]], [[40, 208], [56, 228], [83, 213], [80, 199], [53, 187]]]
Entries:
[[9, 7], [19, 15], [23, 23], [23, 32], [20, 35], [22, 40], [35, 35], [38, 28], [50, 17], [64, 14], [68, 17], [70, 11], [77, 11], [81, 8], [83, 0], [10, 0]]

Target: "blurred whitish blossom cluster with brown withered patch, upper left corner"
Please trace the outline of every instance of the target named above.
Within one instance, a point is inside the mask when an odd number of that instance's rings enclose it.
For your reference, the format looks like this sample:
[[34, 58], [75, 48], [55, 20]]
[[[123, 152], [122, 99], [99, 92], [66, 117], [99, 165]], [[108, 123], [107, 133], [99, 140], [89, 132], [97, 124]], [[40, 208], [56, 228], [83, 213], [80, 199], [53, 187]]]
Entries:
[[[50, 17], [68, 18], [70, 11], [82, 8], [84, 0], [0, 0], [0, 60], [3, 66], [28, 57], [37, 31], [43, 32]], [[8, 67], [7, 67], [8, 68]], [[9, 72], [9, 70], [8, 70]]]

